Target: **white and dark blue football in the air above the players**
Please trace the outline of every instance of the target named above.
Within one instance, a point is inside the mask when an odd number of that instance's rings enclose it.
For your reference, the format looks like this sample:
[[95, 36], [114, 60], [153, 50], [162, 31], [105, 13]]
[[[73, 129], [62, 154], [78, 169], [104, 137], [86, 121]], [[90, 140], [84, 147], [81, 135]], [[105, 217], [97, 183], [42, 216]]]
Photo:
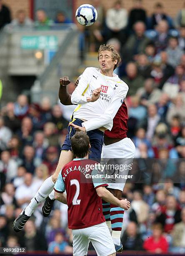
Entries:
[[82, 26], [92, 26], [97, 20], [97, 10], [92, 5], [80, 5], [76, 10], [77, 22]]

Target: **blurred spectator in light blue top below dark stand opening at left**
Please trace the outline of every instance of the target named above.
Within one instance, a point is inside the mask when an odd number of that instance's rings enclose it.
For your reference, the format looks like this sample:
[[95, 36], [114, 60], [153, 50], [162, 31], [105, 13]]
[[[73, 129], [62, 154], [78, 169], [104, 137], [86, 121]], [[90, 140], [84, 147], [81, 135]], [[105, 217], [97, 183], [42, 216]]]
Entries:
[[19, 95], [17, 102], [15, 102], [14, 114], [19, 119], [23, 119], [28, 114], [28, 98], [26, 95]]

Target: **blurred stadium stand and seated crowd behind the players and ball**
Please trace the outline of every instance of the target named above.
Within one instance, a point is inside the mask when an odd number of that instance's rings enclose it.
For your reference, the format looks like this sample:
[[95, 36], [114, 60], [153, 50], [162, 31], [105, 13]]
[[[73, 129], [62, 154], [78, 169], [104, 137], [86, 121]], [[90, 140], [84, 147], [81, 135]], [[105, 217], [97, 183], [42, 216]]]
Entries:
[[[75, 19], [84, 3], [98, 12], [88, 28]], [[185, 253], [183, 0], [0, 0], [0, 247], [72, 255], [65, 205], [55, 201], [50, 218], [39, 207], [20, 233], [12, 225], [57, 166], [74, 110], [58, 100], [60, 77], [70, 77], [72, 93], [107, 42], [120, 52], [115, 73], [130, 87], [133, 172], [149, 177], [125, 185], [124, 253]]]

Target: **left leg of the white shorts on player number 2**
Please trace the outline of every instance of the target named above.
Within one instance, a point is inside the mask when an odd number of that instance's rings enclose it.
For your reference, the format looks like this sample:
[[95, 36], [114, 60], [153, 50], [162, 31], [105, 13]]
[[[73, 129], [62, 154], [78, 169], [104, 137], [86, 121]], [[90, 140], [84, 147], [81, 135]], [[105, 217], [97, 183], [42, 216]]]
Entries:
[[72, 230], [73, 256], [87, 255], [90, 240], [83, 230], [85, 230], [85, 228]]

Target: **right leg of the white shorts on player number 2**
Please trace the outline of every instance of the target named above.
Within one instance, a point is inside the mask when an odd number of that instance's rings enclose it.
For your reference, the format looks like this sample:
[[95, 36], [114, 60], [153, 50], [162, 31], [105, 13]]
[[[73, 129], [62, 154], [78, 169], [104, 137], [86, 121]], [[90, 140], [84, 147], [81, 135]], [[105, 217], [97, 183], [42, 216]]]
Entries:
[[105, 222], [86, 229], [98, 256], [115, 256], [115, 246]]

